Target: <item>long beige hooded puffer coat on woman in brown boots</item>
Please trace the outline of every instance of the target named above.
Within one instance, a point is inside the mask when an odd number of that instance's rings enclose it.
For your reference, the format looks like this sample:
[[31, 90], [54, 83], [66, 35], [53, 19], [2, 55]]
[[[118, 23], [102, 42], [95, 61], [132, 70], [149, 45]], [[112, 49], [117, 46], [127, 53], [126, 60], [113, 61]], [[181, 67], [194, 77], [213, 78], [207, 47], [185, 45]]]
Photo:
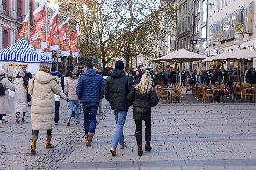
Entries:
[[55, 109], [54, 94], [60, 93], [61, 88], [54, 76], [42, 71], [35, 74], [32, 85], [29, 87], [29, 94], [32, 95], [32, 130], [52, 129]]

